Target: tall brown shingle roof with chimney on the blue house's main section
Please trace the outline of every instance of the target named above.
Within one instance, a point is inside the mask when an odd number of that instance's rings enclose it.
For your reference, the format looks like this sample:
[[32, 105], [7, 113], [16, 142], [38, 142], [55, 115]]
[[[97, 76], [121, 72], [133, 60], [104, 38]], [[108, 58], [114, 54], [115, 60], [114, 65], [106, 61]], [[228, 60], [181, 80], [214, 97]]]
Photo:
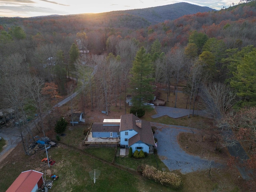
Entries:
[[128, 140], [128, 145], [131, 146], [138, 141], [144, 142], [148, 145], [155, 145], [150, 122], [141, 120], [140, 128], [136, 125], [136, 120], [140, 120], [140, 118], [136, 117], [134, 114], [126, 114], [121, 116], [120, 132], [133, 129], [138, 133]]

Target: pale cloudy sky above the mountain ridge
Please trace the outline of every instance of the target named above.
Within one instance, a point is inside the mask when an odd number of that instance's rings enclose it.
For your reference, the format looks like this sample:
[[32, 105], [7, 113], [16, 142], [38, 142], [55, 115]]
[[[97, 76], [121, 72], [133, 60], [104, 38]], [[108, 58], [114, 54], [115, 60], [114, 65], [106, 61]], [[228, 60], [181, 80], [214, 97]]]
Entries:
[[0, 0], [0, 17], [33, 17], [52, 14], [100, 13], [156, 7], [178, 2], [188, 2], [220, 10], [229, 7], [230, 0]]

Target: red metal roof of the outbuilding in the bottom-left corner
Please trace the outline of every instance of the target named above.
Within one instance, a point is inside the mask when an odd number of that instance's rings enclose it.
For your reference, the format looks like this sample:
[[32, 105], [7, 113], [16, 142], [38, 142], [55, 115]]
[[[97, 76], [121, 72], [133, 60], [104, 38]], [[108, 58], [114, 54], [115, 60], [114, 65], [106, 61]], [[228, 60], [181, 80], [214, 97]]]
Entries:
[[43, 173], [34, 170], [21, 172], [6, 192], [30, 192], [42, 175]]

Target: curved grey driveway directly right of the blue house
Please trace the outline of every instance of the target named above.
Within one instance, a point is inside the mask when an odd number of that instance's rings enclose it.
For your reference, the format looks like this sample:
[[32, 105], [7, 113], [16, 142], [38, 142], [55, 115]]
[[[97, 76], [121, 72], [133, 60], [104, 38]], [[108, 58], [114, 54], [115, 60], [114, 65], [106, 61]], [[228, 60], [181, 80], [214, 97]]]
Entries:
[[[182, 174], [194, 172], [197, 170], [208, 169], [210, 160], [201, 159], [186, 153], [180, 148], [177, 142], [177, 136], [180, 132], [191, 132], [191, 128], [160, 124], [150, 122], [151, 126], [158, 128], [154, 134], [157, 138], [157, 153], [162, 162], [170, 171], [180, 170]], [[196, 130], [196, 129], [195, 129]], [[188, 146], [189, 147], [189, 146]], [[215, 162], [211, 162], [211, 167], [223, 166]]]

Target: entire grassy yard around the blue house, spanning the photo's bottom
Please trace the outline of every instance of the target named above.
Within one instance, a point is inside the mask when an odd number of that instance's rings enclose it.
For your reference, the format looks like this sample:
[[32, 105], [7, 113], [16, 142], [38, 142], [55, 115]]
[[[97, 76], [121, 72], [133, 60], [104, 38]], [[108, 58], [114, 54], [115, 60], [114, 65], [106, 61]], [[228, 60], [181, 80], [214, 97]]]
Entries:
[[[238, 181], [233, 178], [234, 174], [228, 168], [212, 169], [211, 176], [208, 176], [208, 170], [185, 175], [180, 174], [177, 170], [175, 173], [180, 175], [183, 181], [183, 186], [179, 190], [173, 190], [138, 174], [121, 170], [112, 165], [113, 160], [118, 165], [134, 170], [145, 164], [158, 167], [159, 170], [168, 171], [168, 168], [157, 155], [148, 155], [145, 159], [138, 160], [127, 156], [124, 158], [116, 156], [116, 148], [85, 148], [80, 146], [84, 138], [83, 129], [83, 126], [76, 126], [75, 128], [70, 126], [65, 132], [67, 135], [61, 137], [61, 143], [48, 150], [48, 156], [56, 161], [53, 166], [50, 165], [50, 168], [48, 168], [48, 164], [41, 162], [42, 158], [46, 157], [44, 150], [40, 150], [32, 156], [27, 156], [24, 154], [21, 144], [19, 144], [5, 161], [0, 163], [0, 171], [5, 173], [0, 174], [0, 192], [6, 191], [20, 172], [30, 169], [46, 172], [46, 179], [50, 179], [50, 174], [58, 175], [59, 179], [54, 181], [51, 189], [54, 192], [119, 192], [121, 190], [124, 192], [240, 191], [236, 186]], [[77, 137], [71, 140], [70, 138], [73, 136]], [[86, 153], [94, 155], [95, 158], [86, 155]], [[109, 163], [104, 163], [98, 158]], [[94, 169], [100, 171], [100, 176], [95, 184], [89, 176], [89, 172]], [[221, 188], [225, 190], [220, 190]]]

